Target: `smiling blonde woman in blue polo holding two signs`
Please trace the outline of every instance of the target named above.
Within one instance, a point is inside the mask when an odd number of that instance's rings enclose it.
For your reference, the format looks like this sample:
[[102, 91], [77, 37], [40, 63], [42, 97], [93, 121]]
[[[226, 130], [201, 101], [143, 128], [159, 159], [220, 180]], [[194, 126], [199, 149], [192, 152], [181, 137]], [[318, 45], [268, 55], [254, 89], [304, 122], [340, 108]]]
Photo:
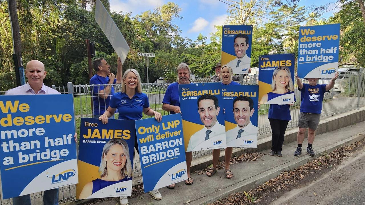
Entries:
[[[118, 109], [118, 119], [122, 120], [139, 120], [142, 119], [142, 112], [145, 115], [155, 116], [155, 119], [160, 122], [162, 120], [161, 113], [154, 111], [150, 108], [148, 97], [145, 93], [142, 93], [141, 77], [135, 69], [128, 69], [124, 72], [122, 91], [114, 94], [109, 103], [108, 109], [103, 115], [99, 117], [99, 120], [103, 124], [108, 123], [108, 118], [112, 116], [112, 113]], [[135, 140], [134, 147], [138, 152], [137, 139]], [[150, 191], [149, 194], [155, 199], [160, 200], [162, 196], [158, 190]], [[120, 204], [127, 205], [127, 197], [120, 197]]]

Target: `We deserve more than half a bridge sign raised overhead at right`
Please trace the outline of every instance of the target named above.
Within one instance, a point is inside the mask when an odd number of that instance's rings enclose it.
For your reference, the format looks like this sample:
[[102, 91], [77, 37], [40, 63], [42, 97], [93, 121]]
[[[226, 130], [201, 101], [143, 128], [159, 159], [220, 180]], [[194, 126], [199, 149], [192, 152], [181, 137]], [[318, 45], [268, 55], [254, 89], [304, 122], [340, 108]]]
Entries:
[[299, 28], [298, 76], [334, 77], [338, 68], [340, 24]]

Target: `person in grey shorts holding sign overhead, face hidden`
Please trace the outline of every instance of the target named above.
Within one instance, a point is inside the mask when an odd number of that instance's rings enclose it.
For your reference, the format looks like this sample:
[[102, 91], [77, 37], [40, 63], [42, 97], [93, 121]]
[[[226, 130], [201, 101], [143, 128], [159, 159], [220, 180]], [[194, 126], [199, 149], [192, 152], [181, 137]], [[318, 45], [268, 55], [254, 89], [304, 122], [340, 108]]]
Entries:
[[315, 138], [315, 131], [319, 124], [320, 113], [322, 112], [323, 95], [335, 85], [335, 81], [338, 78], [338, 72], [327, 85], [318, 85], [317, 82], [319, 78], [306, 78], [309, 83], [304, 84], [301, 82], [299, 76], [295, 75], [295, 77], [297, 79], [298, 88], [301, 92], [301, 105], [298, 119], [298, 147], [294, 152], [294, 155], [299, 156], [301, 154], [301, 144], [304, 141], [304, 133], [308, 128], [307, 153], [314, 156], [312, 144]]

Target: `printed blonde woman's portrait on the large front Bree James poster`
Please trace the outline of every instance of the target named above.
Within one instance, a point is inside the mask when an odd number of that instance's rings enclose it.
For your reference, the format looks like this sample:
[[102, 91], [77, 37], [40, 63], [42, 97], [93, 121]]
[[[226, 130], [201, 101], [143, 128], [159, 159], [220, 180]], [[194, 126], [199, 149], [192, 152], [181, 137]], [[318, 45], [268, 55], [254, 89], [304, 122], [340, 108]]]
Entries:
[[115, 138], [105, 143], [99, 166], [100, 178], [88, 182], [81, 191], [80, 199], [116, 183], [132, 180], [132, 162], [128, 144]]

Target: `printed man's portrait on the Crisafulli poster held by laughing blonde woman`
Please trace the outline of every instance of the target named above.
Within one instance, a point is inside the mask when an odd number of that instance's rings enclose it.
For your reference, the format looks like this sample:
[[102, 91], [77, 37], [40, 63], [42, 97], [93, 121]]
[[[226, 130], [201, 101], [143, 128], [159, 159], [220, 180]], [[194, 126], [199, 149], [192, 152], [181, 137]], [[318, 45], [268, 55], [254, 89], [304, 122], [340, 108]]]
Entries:
[[253, 106], [252, 98], [247, 96], [239, 96], [233, 100], [233, 115], [237, 127], [226, 132], [227, 147], [257, 146], [257, 127], [250, 120], [255, 112]]

